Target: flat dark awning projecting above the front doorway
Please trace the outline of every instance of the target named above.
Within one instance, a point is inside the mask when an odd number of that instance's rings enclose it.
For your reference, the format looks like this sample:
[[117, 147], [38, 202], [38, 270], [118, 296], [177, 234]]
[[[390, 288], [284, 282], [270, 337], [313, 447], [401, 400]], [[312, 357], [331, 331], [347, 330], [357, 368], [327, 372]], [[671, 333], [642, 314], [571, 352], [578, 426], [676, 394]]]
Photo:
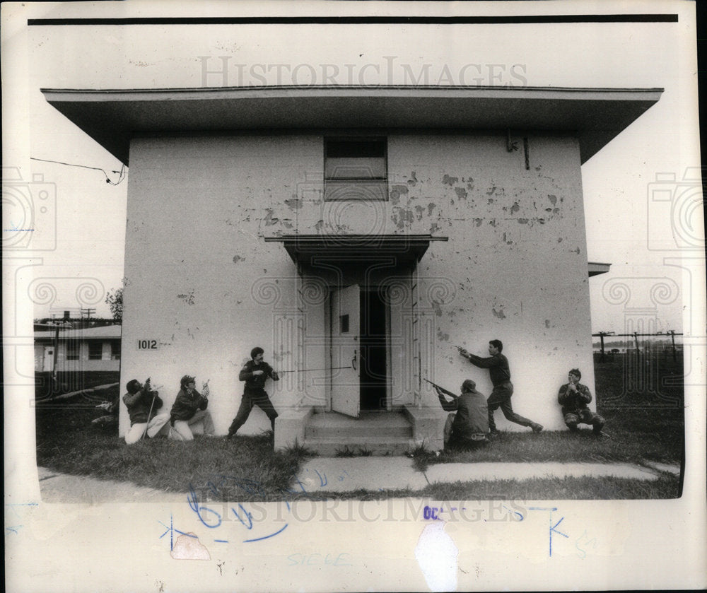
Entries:
[[296, 264], [312, 264], [312, 259], [329, 261], [366, 258], [371, 261], [396, 257], [400, 263], [419, 262], [431, 241], [449, 237], [432, 235], [280, 235], [265, 237], [281, 242]]

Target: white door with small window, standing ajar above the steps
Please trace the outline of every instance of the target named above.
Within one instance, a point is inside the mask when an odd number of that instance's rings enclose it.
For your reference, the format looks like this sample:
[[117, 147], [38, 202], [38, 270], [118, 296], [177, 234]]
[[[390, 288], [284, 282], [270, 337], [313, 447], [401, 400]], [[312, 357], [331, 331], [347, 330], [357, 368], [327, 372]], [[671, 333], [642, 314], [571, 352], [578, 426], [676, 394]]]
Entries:
[[358, 284], [332, 291], [332, 410], [354, 418], [361, 409], [359, 295]]

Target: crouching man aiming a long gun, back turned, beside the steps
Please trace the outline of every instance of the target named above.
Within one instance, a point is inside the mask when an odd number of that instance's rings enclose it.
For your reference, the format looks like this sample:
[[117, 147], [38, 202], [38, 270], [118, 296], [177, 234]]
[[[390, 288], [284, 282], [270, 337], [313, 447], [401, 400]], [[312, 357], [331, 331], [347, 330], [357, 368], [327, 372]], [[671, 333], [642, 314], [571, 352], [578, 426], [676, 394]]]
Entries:
[[[472, 449], [489, 442], [489, 406], [486, 397], [477, 392], [471, 379], [462, 383], [462, 394], [456, 396], [435, 385], [442, 409], [450, 413], [444, 427], [445, 449], [461, 447]], [[445, 395], [452, 398], [447, 401]]]

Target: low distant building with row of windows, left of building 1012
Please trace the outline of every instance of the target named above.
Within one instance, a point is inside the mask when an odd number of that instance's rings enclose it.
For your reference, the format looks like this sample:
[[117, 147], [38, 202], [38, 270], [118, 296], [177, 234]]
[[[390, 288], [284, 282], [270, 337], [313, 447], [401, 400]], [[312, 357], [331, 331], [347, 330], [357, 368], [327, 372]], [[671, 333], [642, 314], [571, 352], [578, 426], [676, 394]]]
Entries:
[[[59, 330], [57, 370], [120, 370], [121, 330], [119, 325]], [[55, 330], [34, 335], [35, 372], [53, 370]]]

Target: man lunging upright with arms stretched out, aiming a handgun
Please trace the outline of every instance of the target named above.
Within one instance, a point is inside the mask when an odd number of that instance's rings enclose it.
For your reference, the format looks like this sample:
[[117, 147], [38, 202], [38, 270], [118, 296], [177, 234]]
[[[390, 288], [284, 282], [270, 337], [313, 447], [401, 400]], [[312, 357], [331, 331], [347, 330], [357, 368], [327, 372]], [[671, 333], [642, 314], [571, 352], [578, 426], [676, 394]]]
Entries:
[[459, 353], [469, 360], [472, 365], [479, 368], [489, 369], [491, 383], [493, 383], [493, 391], [487, 400], [489, 404], [489, 427], [491, 435], [497, 436], [496, 423], [493, 421], [493, 411], [501, 408], [503, 416], [506, 420], [515, 422], [521, 426], [530, 426], [534, 433], [539, 433], [542, 430], [542, 425], [532, 420], [528, 420], [523, 416], [519, 416], [513, 411], [513, 405], [510, 403], [510, 397], [513, 395], [513, 383], [510, 382], [510, 368], [508, 367], [508, 358], [503, 356], [503, 342], [501, 340], [491, 340], [489, 342], [489, 358], [481, 358], [469, 354], [464, 348], [459, 349]]

